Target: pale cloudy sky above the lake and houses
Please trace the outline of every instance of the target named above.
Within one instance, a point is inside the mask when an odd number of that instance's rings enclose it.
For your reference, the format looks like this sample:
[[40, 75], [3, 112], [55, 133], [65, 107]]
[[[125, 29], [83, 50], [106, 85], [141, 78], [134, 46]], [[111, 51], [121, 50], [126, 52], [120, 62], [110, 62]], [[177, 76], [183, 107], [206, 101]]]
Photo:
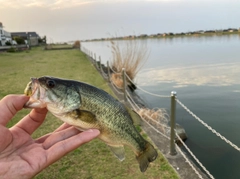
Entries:
[[0, 22], [56, 43], [240, 28], [239, 9], [239, 0], [0, 0]]

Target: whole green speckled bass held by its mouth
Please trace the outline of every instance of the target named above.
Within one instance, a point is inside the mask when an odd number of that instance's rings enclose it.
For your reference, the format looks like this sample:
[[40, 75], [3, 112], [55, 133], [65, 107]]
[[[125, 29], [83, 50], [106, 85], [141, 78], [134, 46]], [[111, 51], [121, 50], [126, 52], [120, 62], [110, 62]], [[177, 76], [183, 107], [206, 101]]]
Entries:
[[98, 138], [105, 142], [115, 156], [125, 159], [124, 146], [136, 155], [141, 172], [145, 172], [158, 152], [134, 126], [131, 114], [116, 98], [90, 84], [43, 76], [31, 78], [24, 94], [30, 96], [27, 108], [47, 108], [63, 122], [80, 131], [98, 129]]

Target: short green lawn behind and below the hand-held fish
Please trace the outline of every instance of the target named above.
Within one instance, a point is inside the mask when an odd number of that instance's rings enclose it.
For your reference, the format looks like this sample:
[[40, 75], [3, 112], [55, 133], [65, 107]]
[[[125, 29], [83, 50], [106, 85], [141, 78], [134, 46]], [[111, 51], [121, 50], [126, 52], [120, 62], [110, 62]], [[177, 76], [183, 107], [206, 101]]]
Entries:
[[[28, 53], [1, 53], [0, 71], [0, 98], [7, 94], [22, 94], [30, 77], [43, 75], [85, 81], [113, 95], [107, 83], [86, 56], [78, 50], [43, 51], [42, 48], [32, 48]], [[8, 126], [14, 125], [28, 112], [28, 109], [20, 111]], [[60, 120], [48, 114], [45, 122], [34, 132], [33, 138], [53, 131], [61, 123]], [[161, 153], [142, 174], [129, 148], [126, 148], [126, 159], [119, 162], [108, 147], [96, 139], [69, 153], [35, 178], [175, 179], [178, 176]]]

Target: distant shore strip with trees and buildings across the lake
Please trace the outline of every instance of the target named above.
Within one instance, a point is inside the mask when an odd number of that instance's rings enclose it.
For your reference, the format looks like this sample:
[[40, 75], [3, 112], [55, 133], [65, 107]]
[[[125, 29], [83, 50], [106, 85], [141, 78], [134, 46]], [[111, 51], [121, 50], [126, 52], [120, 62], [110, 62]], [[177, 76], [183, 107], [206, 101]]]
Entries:
[[231, 35], [231, 34], [239, 34], [240, 28], [228, 28], [221, 30], [199, 30], [199, 31], [190, 31], [190, 32], [180, 32], [180, 33], [157, 33], [157, 34], [141, 34], [141, 35], [129, 35], [122, 37], [110, 37], [110, 38], [100, 38], [100, 39], [89, 39], [83, 40], [82, 42], [90, 42], [90, 41], [108, 41], [108, 40], [130, 40], [130, 39], [143, 39], [143, 38], [169, 38], [169, 37], [191, 37], [191, 36], [214, 36], [214, 35]]

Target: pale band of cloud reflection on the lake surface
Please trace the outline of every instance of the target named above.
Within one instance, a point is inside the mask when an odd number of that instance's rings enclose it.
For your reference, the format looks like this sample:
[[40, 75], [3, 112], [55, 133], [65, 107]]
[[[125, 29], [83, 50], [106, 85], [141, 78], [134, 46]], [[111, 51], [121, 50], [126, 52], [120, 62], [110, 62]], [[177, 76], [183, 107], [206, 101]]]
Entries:
[[240, 84], [240, 62], [179, 66], [175, 68], [146, 69], [138, 75], [142, 86], [154, 86], [161, 82], [176, 83], [174, 87], [187, 85], [229, 86]]

